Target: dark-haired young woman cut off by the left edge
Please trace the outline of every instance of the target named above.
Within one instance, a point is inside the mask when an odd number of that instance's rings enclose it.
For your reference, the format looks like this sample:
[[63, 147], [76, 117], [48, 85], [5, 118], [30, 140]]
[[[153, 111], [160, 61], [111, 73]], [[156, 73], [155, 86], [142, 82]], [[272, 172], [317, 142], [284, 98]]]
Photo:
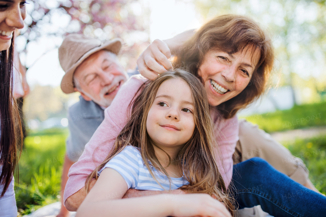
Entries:
[[13, 97], [14, 31], [24, 27], [25, 1], [0, 1], [0, 213], [17, 216], [13, 172], [22, 144], [22, 128]]

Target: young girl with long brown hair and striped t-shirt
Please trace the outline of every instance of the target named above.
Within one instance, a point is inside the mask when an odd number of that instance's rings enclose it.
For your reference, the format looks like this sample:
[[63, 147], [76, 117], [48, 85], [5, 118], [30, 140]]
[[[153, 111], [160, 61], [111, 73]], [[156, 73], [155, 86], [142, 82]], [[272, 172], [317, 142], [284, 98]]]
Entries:
[[[231, 216], [203, 85], [178, 69], [141, 88], [115, 146], [88, 176], [89, 193], [76, 216]], [[89, 191], [93, 178], [97, 181]], [[202, 194], [119, 200], [129, 188]]]

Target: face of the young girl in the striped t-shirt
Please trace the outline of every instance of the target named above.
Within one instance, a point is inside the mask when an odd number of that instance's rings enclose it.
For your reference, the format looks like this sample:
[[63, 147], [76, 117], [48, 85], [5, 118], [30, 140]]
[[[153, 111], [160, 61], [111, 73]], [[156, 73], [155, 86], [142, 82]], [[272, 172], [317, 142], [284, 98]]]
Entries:
[[148, 112], [146, 129], [158, 146], [185, 144], [195, 129], [190, 87], [181, 78], [164, 81]]

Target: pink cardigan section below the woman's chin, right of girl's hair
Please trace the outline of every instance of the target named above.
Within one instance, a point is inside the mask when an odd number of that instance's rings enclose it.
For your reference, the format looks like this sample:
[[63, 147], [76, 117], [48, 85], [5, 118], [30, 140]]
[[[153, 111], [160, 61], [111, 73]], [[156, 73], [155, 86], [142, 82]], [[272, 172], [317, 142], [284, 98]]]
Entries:
[[214, 122], [214, 134], [218, 147], [215, 155], [217, 156], [217, 166], [228, 188], [233, 172], [233, 153], [239, 140], [239, 123], [237, 116], [224, 119], [217, 111], [212, 114]]

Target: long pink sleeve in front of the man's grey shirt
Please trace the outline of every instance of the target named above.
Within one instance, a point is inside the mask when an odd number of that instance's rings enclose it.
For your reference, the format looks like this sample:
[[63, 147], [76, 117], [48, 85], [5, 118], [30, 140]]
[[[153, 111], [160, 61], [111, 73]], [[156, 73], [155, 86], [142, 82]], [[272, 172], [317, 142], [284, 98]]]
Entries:
[[115, 138], [128, 120], [127, 108], [137, 90], [146, 81], [142, 76], [131, 77], [119, 90], [111, 106], [104, 110], [104, 120], [98, 126], [79, 160], [73, 164], [68, 173], [64, 192], [64, 202], [85, 186], [87, 176], [94, 171], [108, 156]]

